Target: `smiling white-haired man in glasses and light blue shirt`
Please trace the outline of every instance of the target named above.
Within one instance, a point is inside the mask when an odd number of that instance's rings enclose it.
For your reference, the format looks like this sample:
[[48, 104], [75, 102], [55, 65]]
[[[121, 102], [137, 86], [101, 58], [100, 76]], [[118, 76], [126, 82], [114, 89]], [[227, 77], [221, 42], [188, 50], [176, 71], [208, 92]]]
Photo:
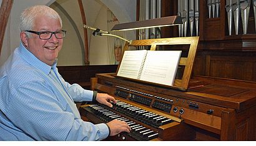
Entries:
[[21, 14], [21, 43], [0, 69], [0, 140], [102, 140], [130, 132], [126, 122], [82, 121], [74, 101], [112, 106], [112, 96], [69, 84], [56, 64], [66, 31], [56, 11], [32, 6]]

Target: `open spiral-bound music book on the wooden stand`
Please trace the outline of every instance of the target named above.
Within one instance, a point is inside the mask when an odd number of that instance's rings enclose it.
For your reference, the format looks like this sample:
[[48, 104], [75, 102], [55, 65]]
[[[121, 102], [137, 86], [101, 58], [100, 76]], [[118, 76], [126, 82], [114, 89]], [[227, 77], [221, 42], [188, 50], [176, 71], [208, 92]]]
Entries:
[[173, 86], [181, 51], [127, 50], [117, 76]]

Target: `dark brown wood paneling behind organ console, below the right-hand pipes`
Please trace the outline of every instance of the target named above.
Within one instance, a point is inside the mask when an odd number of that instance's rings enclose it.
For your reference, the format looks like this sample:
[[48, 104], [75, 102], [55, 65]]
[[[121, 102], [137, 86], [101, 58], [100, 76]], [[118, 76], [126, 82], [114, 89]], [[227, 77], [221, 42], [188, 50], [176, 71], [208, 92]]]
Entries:
[[256, 58], [252, 54], [254, 53], [200, 53], [195, 59], [194, 75], [256, 81]]

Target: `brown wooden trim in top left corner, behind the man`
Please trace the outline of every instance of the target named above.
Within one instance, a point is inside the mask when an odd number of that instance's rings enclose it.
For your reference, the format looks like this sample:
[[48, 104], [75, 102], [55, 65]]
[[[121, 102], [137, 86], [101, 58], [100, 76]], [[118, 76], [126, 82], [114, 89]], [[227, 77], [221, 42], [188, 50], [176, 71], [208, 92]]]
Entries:
[[2, 50], [2, 42], [4, 41], [4, 33], [8, 22], [9, 14], [11, 12], [13, 0], [2, 0], [0, 8], [0, 56]]

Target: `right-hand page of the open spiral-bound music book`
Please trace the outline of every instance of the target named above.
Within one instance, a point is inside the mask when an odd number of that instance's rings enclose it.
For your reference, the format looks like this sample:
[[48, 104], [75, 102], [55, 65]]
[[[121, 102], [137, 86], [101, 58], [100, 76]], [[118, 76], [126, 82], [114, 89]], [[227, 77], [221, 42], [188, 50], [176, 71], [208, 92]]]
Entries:
[[140, 80], [172, 86], [181, 51], [148, 51]]

